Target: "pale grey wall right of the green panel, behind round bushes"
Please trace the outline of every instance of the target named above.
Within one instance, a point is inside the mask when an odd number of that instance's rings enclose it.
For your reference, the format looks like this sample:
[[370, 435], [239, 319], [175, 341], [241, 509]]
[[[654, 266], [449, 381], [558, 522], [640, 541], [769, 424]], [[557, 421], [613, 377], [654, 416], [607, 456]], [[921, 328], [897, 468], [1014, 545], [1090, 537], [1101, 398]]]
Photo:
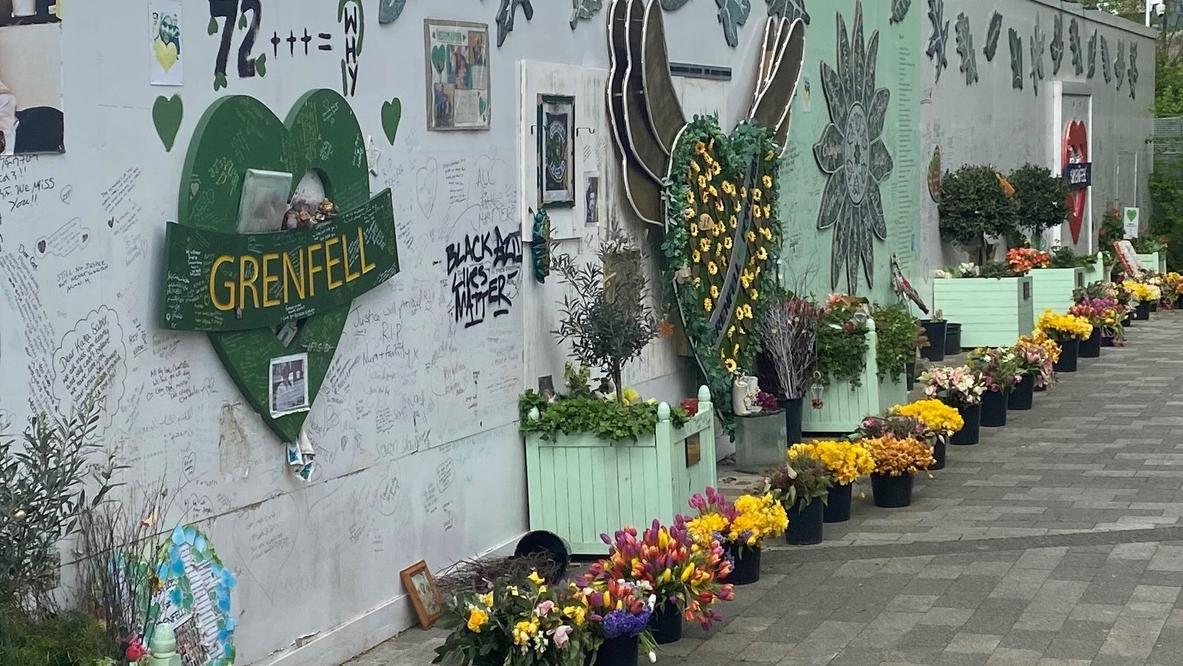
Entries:
[[[994, 12], [1003, 14], [1002, 35], [994, 62], [983, 53], [987, 28]], [[958, 71], [961, 56], [957, 53], [956, 22], [958, 14], [969, 17], [974, 35], [980, 80], [965, 84]], [[1051, 57], [1053, 21], [1056, 13], [1064, 14], [1065, 56], [1059, 75], [1053, 73]], [[1080, 24], [1085, 71], [1075, 75], [1072, 52], [1068, 49], [1068, 27], [1075, 17]], [[1045, 77], [1039, 82], [1039, 95], [1032, 86], [1030, 38], [1036, 18], [1046, 35], [1043, 52]], [[1064, 131], [1069, 114], [1062, 112], [1058, 89], [1073, 97], [1068, 101], [1075, 108], [1091, 106], [1090, 140], [1092, 143], [1093, 187], [1091, 215], [1086, 215], [1078, 252], [1094, 252], [1095, 232], [1100, 228], [1101, 214], [1107, 203], [1118, 206], [1149, 205], [1146, 179], [1152, 162], [1152, 149], [1146, 140], [1152, 135], [1155, 91], [1155, 31], [1132, 24], [1100, 11], [1086, 11], [1074, 2], [1060, 0], [944, 0], [944, 19], [950, 22], [948, 60], [949, 67], [936, 80], [936, 63], [925, 58], [920, 69], [923, 102], [920, 124], [923, 130], [922, 156], [927, 164], [933, 148], [940, 147], [942, 168], [955, 170], [962, 164], [994, 164], [1003, 173], [1010, 173], [1027, 162], [1060, 172], [1060, 151]], [[932, 34], [927, 18], [922, 20], [923, 50], [927, 50]], [[1011, 88], [1010, 46], [1008, 28], [1015, 28], [1023, 40], [1023, 89]], [[1138, 44], [1137, 98], [1130, 97], [1129, 80], [1120, 90], [1117, 82], [1105, 83], [1098, 54], [1097, 71], [1088, 78], [1088, 39], [1098, 30], [1110, 44], [1110, 59], [1116, 58], [1118, 41], [1125, 43], [1126, 59], [1130, 44]], [[1099, 50], [1099, 47], [1098, 47]], [[1058, 86], [1058, 82], [1065, 82]], [[1082, 98], [1087, 102], [1081, 103]], [[1075, 102], [1073, 102], [1075, 101]], [[1085, 119], [1085, 118], [1081, 118]], [[1137, 177], [1130, 172], [1137, 162]], [[1119, 163], [1126, 180], [1119, 192]], [[922, 293], [931, 293], [932, 272], [942, 266], [964, 261], [965, 256], [949, 245], [942, 245], [937, 205], [922, 187]], [[1092, 227], [1090, 227], [1090, 216]], [[1071, 244], [1067, 225], [1062, 238]], [[1086, 244], [1092, 238], [1092, 246]]]

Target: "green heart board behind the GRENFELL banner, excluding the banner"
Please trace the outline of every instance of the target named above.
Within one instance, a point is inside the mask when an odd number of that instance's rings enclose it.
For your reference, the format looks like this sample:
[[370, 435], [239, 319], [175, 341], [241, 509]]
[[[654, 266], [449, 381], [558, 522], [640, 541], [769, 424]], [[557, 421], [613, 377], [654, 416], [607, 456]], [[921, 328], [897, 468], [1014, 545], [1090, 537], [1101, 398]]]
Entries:
[[[247, 169], [293, 174], [293, 190], [305, 173], [315, 172], [324, 183], [325, 196], [344, 213], [342, 216], [367, 206], [376, 211], [380, 219], [373, 228], [381, 231], [384, 243], [394, 251], [389, 190], [371, 201], [368, 168], [361, 125], [349, 102], [332, 90], [313, 90], [304, 95], [286, 122], [280, 122], [266, 105], [252, 97], [222, 97], [206, 110], [189, 144], [181, 177], [177, 224], [234, 234]], [[298, 234], [315, 238], [318, 228], [328, 225], [330, 222], [322, 222], [309, 229], [280, 234], [283, 240], [297, 239]], [[263, 234], [271, 235], [279, 234]], [[347, 252], [353, 252], [353, 248]], [[393, 266], [383, 271], [377, 282], [388, 279], [395, 272], [396, 256]], [[271, 329], [208, 334], [239, 390], [285, 442], [296, 441], [308, 413], [271, 416], [267, 401], [270, 361], [308, 353], [309, 399], [316, 400], [349, 316], [348, 302], [343, 306], [317, 312], [306, 318], [286, 347]]]

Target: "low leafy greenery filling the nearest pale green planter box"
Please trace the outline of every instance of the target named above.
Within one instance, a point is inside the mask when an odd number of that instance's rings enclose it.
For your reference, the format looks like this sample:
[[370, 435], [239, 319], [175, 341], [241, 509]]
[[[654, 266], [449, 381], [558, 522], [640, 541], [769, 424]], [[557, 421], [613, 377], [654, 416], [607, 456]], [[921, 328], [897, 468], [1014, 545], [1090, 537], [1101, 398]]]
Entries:
[[[518, 399], [519, 408], [538, 407], [541, 412], [537, 420], [530, 419], [529, 409], [522, 412], [522, 433], [537, 433], [544, 441], [555, 441], [560, 434], [594, 434], [607, 440], [638, 441], [657, 429], [655, 402], [620, 405], [596, 397], [565, 397], [552, 403], [543, 400], [539, 405], [537, 397], [541, 396], [526, 390]], [[685, 409], [670, 408], [670, 422], [674, 427], [683, 427], [689, 419]]]

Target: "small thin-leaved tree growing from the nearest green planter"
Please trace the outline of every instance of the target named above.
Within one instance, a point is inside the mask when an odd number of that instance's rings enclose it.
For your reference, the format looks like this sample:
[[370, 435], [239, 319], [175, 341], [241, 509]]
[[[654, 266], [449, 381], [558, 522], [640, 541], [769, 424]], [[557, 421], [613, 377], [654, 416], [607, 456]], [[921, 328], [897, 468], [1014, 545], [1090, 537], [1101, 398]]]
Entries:
[[554, 270], [574, 295], [563, 296], [558, 329], [571, 355], [586, 366], [602, 368], [623, 405], [625, 363], [641, 355], [658, 335], [658, 319], [648, 305], [640, 250], [619, 227], [609, 227], [600, 245], [599, 263], [577, 265], [569, 254], [554, 258]]

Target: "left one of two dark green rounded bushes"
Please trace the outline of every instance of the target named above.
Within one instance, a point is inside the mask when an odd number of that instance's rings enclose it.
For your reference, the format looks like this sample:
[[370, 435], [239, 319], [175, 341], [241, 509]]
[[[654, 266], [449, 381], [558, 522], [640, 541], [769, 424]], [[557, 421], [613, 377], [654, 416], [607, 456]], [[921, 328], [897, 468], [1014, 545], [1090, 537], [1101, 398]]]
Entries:
[[946, 173], [940, 185], [940, 237], [984, 264], [987, 237], [1013, 234], [1019, 216], [994, 167], [967, 164]]

